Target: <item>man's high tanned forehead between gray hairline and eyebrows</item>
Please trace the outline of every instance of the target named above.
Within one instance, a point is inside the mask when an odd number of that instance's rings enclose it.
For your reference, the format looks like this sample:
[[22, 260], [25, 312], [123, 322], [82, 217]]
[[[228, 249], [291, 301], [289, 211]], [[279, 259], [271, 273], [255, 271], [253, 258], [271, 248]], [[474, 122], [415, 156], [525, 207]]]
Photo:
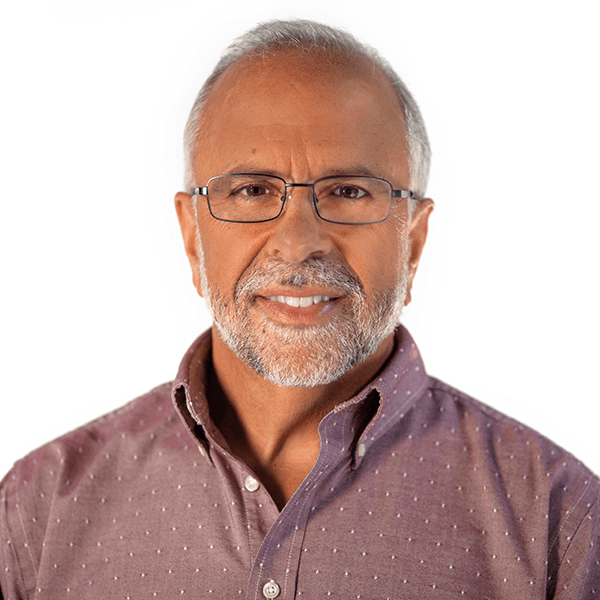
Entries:
[[266, 145], [290, 161], [304, 153], [315, 168], [336, 153], [342, 162], [359, 164], [365, 154], [378, 162], [384, 149], [406, 162], [405, 132], [400, 100], [370, 59], [278, 50], [243, 58], [217, 80], [200, 121], [196, 167], [216, 161], [228, 169]]

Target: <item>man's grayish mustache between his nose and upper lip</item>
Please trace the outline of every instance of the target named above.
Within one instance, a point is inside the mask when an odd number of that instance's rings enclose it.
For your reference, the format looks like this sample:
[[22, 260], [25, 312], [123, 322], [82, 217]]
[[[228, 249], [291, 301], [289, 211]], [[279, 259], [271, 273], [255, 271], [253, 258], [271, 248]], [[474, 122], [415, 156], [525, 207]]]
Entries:
[[291, 264], [278, 258], [253, 263], [240, 277], [235, 287], [235, 299], [255, 294], [268, 286], [304, 287], [318, 285], [336, 288], [345, 294], [364, 295], [364, 286], [347, 265], [329, 257], [307, 258]]

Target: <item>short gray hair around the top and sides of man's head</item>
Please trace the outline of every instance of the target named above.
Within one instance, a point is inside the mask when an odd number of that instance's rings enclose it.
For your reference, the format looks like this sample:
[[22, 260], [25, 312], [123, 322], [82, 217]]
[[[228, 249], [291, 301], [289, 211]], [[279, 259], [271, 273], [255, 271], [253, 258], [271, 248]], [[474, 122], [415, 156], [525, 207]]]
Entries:
[[404, 85], [390, 63], [366, 44], [350, 33], [329, 27], [315, 21], [293, 19], [289, 21], [268, 21], [261, 23], [242, 36], [236, 38], [225, 49], [213, 72], [204, 82], [198, 93], [184, 132], [184, 185], [188, 192], [194, 187], [194, 159], [198, 152], [200, 117], [206, 99], [217, 79], [237, 60], [266, 53], [277, 48], [302, 48], [334, 52], [358, 53], [371, 59], [388, 77], [400, 99], [407, 125], [407, 143], [410, 153], [410, 189], [418, 199], [423, 198], [427, 188], [431, 148], [427, 138], [421, 111], [408, 88]]

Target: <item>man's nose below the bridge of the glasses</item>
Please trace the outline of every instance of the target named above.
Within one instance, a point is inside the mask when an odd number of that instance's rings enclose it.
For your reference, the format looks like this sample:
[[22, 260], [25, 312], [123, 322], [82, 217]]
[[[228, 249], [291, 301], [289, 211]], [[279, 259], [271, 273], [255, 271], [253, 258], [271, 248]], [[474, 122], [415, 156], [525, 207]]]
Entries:
[[273, 233], [266, 250], [286, 262], [301, 263], [307, 258], [325, 256], [333, 248], [328, 224], [313, 205], [310, 187], [288, 187], [283, 213], [273, 221]]

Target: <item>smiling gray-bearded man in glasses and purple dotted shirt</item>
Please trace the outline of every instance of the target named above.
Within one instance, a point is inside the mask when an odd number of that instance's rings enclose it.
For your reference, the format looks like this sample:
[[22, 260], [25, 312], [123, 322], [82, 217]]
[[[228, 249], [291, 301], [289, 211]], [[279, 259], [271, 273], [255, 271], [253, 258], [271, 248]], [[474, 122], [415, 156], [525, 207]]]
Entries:
[[175, 204], [215, 326], [171, 384], [17, 463], [4, 598], [588, 598], [598, 479], [429, 377], [412, 97], [349, 35], [237, 40]]

